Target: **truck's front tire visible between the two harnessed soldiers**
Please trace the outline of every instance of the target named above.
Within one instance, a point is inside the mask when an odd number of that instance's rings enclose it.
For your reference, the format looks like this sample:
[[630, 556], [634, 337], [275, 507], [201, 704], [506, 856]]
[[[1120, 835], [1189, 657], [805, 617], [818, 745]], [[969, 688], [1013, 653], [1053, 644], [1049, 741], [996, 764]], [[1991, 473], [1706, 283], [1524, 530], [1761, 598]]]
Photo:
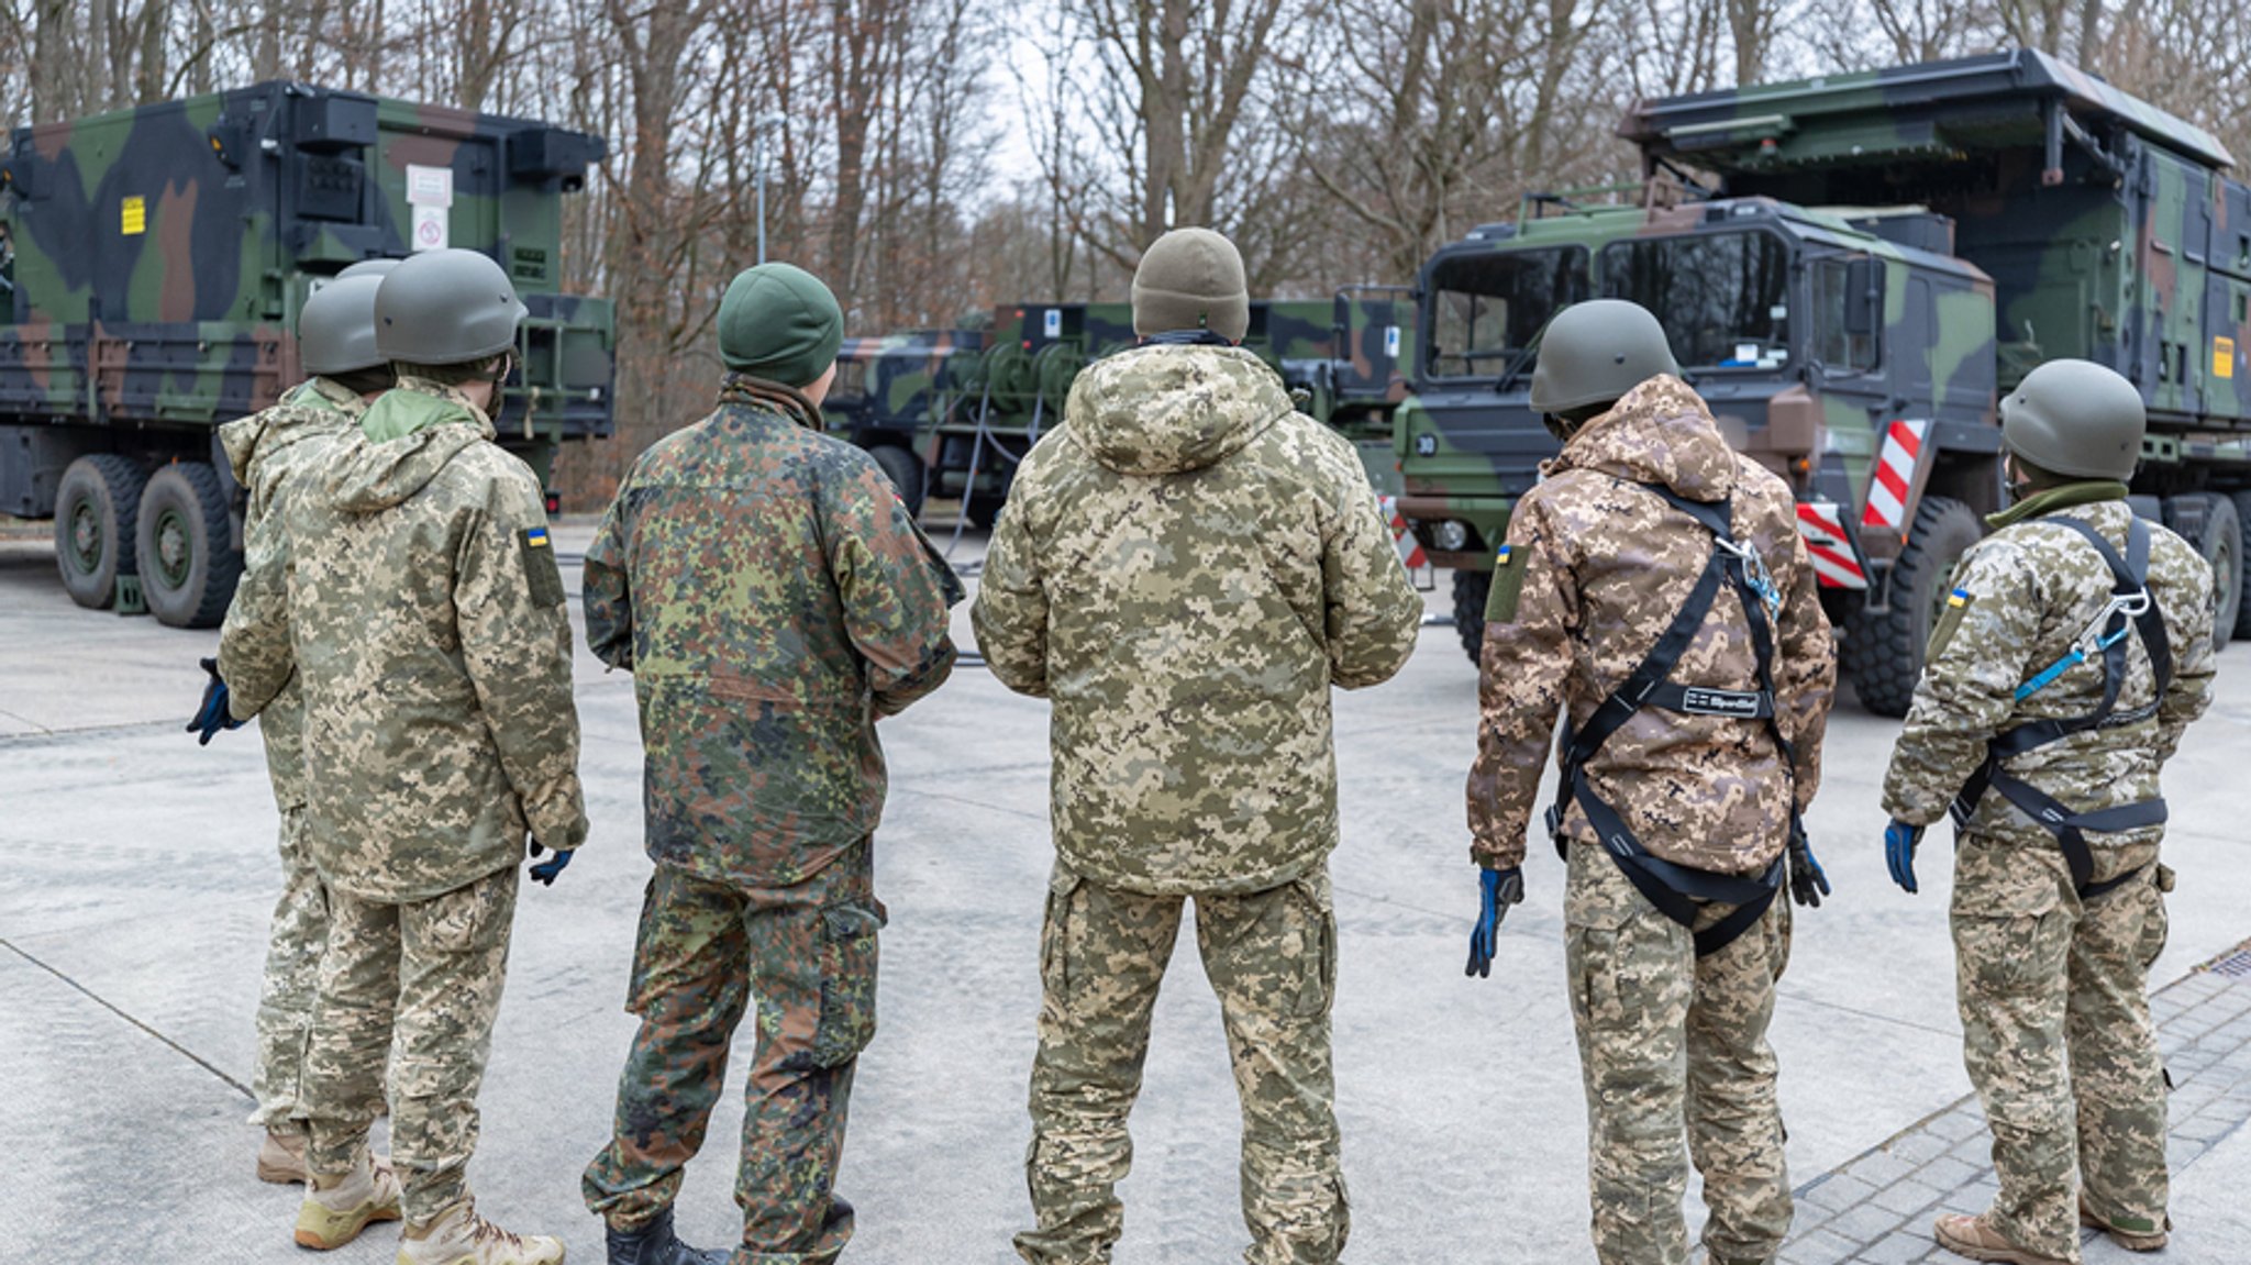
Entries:
[[1855, 610], [1846, 621], [1839, 660], [1859, 705], [1877, 716], [1907, 716], [1922, 680], [1922, 648], [1938, 623], [1940, 594], [1954, 563], [1985, 531], [1976, 513], [1954, 497], [1922, 497], [1900, 560], [1891, 565], [1889, 610]]

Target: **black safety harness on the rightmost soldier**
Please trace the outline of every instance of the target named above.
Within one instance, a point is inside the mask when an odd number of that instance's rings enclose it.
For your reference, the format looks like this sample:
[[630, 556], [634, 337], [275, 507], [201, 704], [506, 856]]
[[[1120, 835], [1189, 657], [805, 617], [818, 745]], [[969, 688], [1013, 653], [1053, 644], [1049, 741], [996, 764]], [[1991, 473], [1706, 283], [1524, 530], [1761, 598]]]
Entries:
[[[2096, 547], [2098, 554], [2102, 554], [2102, 563], [2111, 569], [2111, 599], [2102, 605], [2102, 612], [2096, 614], [2096, 621], [2071, 642], [2071, 651], [2066, 651], [2064, 657], [2055, 660], [2033, 675], [2033, 680], [2017, 687], [2017, 702], [2039, 693], [2053, 684], [2055, 678], [2064, 675], [2064, 671], [2084, 664], [2096, 655], [2102, 657], [2102, 702], [2087, 716], [2071, 716], [2066, 720], [2033, 720], [1997, 734], [1992, 743], [1985, 745], [1985, 763], [1979, 765], [1979, 770], [1970, 774], [1970, 781], [1963, 783], [1949, 813], [1956, 828], [1967, 828], [1979, 799], [1985, 797], [1985, 788], [1990, 786], [1992, 790], [1999, 790], [2003, 799], [2021, 808], [2026, 817], [2039, 822], [2051, 835], [2055, 835], [2055, 842], [2064, 849], [2064, 862], [2071, 867], [2071, 882], [2078, 887], [2080, 900], [2093, 900], [2105, 891], [2123, 887], [2147, 867], [2093, 882], [2096, 858], [2087, 846], [2087, 831], [2132, 831], [2136, 826], [2159, 826], [2165, 822], [2165, 801], [2143, 799], [2138, 804], [2120, 804], [2096, 813], [2073, 813], [2053, 795], [2010, 774], [2003, 763], [2026, 752], [2046, 747], [2048, 743], [2060, 743], [2073, 734], [2114, 729], [2118, 725], [2134, 725], [2154, 716], [2159, 702], [2165, 698], [2165, 689], [2172, 684], [2172, 642], [2165, 637], [2165, 614], [2159, 610], [2156, 596], [2150, 594], [2150, 527], [2141, 518], [2134, 518], [2127, 527], [2123, 558], [2100, 531], [2078, 518], [2055, 515], [2046, 522], [2078, 531], [2089, 545]], [[2150, 669], [2156, 675], [2156, 691], [2152, 693], [2147, 707], [2116, 711], [2118, 691], [2125, 689], [2127, 630], [2141, 632], [2141, 644], [2150, 653]]]

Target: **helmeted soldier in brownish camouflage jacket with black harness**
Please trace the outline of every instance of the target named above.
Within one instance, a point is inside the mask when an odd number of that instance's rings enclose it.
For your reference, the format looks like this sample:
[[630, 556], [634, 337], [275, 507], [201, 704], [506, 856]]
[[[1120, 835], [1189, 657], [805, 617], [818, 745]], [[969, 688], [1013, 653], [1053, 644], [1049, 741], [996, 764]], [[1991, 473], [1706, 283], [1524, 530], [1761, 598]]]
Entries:
[[[1799, 817], [1837, 680], [1790, 488], [1729, 450], [1648, 311], [1564, 308], [1533, 407], [1562, 439], [1508, 518], [1479, 671], [1470, 970], [1524, 898], [1524, 831], [1564, 714], [1549, 833], [1569, 860], [1564, 961], [1587, 1085], [1594, 1249], [1688, 1258], [1688, 1157], [1713, 1263], [1790, 1229], [1767, 1022], [1792, 898], [1828, 880]], [[1787, 862], [1785, 862], [1787, 855]]]

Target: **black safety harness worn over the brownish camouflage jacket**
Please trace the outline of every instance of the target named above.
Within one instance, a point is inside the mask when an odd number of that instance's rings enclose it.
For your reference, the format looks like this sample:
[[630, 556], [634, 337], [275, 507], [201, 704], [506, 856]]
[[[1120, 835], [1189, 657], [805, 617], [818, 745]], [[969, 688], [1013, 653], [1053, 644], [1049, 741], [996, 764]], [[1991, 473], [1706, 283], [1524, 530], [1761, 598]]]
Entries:
[[[1679, 614], [1672, 617], [1672, 623], [1650, 646], [1641, 666], [1618, 689], [1609, 691], [1609, 698], [1594, 709], [1585, 727], [1564, 723], [1562, 777], [1558, 779], [1555, 806], [1549, 808], [1546, 824], [1549, 835], [1555, 840], [1555, 855], [1569, 860], [1562, 815], [1567, 804], [1578, 801], [1580, 813], [1587, 815], [1587, 824], [1594, 826], [1596, 837], [1603, 840], [1603, 849], [1618, 862], [1625, 878], [1632, 880], [1657, 912], [1695, 934], [1697, 957], [1709, 957], [1736, 943], [1736, 936], [1758, 925], [1758, 918], [1767, 914], [1767, 905], [1774, 905], [1774, 894], [1783, 887], [1787, 849], [1758, 878], [1672, 864], [1641, 846], [1641, 840], [1625, 826], [1625, 819], [1594, 792], [1587, 783], [1587, 761], [1636, 711], [1659, 707], [1686, 716], [1765, 720], [1767, 732], [1774, 734], [1774, 745], [1781, 747], [1783, 768], [1794, 774], [1796, 763], [1790, 738], [1783, 736], [1781, 723], [1774, 718], [1774, 632], [1769, 619], [1781, 608], [1781, 590], [1774, 587], [1774, 578], [1767, 574], [1767, 565], [1758, 551], [1736, 540], [1729, 500], [1693, 502], [1663, 484], [1639, 486], [1663, 497], [1666, 504], [1711, 531], [1711, 558], [1704, 563], [1704, 574], [1697, 576], [1695, 587], [1688, 590], [1688, 601], [1681, 603]], [[1745, 621], [1751, 626], [1751, 651], [1758, 660], [1756, 691], [1688, 687], [1670, 680], [1672, 669], [1688, 653], [1697, 628], [1704, 626], [1704, 617], [1711, 614], [1711, 603], [1718, 601], [1722, 585], [1736, 590], [1736, 596], [1742, 601]], [[1799, 840], [1803, 837], [1803, 824], [1799, 822], [1794, 792], [1790, 804], [1790, 837]], [[1736, 909], [1697, 932], [1697, 903], [1733, 905]]]

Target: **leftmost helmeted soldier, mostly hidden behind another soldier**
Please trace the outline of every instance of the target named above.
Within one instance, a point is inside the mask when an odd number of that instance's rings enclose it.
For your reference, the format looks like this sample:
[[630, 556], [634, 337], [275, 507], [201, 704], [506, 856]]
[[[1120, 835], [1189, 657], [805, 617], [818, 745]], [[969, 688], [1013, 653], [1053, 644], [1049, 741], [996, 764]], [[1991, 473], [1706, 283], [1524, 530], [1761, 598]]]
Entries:
[[[353, 277], [322, 286], [297, 317], [297, 349], [311, 374], [281, 403], [218, 428], [218, 441], [234, 466], [234, 482], [248, 491], [243, 551], [250, 565], [272, 549], [281, 527], [272, 509], [281, 491], [317, 468], [331, 437], [347, 430], [367, 401], [392, 385], [392, 369], [376, 351], [376, 277]], [[187, 723], [198, 743], [218, 729], [241, 725], [227, 711], [227, 684], [218, 660], [203, 660], [209, 673], [203, 707]], [[252, 1092], [259, 1098], [250, 1123], [266, 1125], [259, 1146], [261, 1182], [304, 1182], [304, 1047], [313, 1022], [313, 981], [320, 952], [329, 943], [329, 894], [320, 885], [304, 844], [304, 700], [297, 684], [259, 711], [266, 741], [266, 777], [281, 810], [281, 900], [275, 903], [266, 943], [266, 986], [259, 993], [259, 1065]]]

